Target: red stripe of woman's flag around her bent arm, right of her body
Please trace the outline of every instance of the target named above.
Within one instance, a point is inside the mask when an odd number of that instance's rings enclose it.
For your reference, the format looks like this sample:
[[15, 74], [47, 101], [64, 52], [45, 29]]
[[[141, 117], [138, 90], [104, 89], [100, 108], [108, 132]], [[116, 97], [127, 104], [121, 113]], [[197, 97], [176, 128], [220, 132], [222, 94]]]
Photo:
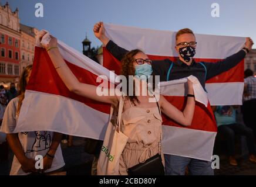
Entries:
[[[183, 111], [186, 103], [187, 98], [184, 96], [164, 96], [172, 105], [176, 106], [177, 109]], [[174, 120], [170, 119], [166, 115], [162, 115], [163, 124], [168, 126], [176, 126], [176, 127], [184, 127]], [[210, 104], [208, 106], [204, 106], [203, 104], [196, 102], [194, 117], [192, 120], [191, 126], [186, 127], [188, 129], [197, 129], [197, 130], [204, 130], [204, 131], [217, 131], [217, 126], [213, 114], [213, 110], [211, 109]]]

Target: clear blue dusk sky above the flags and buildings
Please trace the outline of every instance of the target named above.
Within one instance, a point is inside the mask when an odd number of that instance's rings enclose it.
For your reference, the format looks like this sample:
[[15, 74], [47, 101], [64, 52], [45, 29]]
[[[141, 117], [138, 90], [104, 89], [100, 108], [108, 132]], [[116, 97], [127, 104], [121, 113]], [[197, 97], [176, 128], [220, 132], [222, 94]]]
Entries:
[[[0, 1], [2, 5], [6, 1]], [[255, 0], [9, 0], [12, 11], [18, 7], [21, 23], [46, 29], [71, 47], [82, 51], [87, 37], [93, 46], [100, 41], [93, 25], [105, 23], [177, 31], [189, 27], [195, 33], [252, 37], [256, 41]], [[35, 4], [43, 4], [43, 18], [36, 18]], [[220, 17], [211, 16], [211, 4], [220, 5]], [[256, 45], [254, 45], [256, 48]]]

